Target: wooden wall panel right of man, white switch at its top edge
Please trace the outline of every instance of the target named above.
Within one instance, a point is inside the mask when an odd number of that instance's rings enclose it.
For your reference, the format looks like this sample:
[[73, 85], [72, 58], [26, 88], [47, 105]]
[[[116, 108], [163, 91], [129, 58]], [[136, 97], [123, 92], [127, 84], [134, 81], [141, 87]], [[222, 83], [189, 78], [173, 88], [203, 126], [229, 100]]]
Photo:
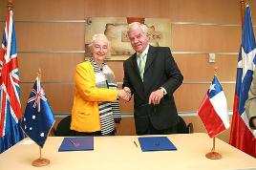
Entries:
[[211, 81], [217, 67], [220, 81], [235, 81], [237, 55], [216, 54], [215, 63], [209, 63], [208, 54], [174, 54], [186, 81]]

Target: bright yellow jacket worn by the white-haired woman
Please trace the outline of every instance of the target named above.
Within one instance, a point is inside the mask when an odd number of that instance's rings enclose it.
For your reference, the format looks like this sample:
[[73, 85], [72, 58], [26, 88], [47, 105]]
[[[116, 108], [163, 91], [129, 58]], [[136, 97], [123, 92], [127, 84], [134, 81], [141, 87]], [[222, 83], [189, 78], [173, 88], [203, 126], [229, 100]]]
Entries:
[[78, 132], [100, 131], [98, 101], [115, 100], [117, 90], [96, 88], [96, 76], [90, 61], [76, 65], [71, 129]]

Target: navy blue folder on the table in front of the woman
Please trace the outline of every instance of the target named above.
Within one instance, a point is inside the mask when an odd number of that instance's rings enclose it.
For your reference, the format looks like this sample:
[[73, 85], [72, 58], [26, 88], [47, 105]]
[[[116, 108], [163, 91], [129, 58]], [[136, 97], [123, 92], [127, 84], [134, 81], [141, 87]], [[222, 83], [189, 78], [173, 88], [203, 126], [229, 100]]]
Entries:
[[94, 150], [94, 137], [64, 138], [58, 152]]

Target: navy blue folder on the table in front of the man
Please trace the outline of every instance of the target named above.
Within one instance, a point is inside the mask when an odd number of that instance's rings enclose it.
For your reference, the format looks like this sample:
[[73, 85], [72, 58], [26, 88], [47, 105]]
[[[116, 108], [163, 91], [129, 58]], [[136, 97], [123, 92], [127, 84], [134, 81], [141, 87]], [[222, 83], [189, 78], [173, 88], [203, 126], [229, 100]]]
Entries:
[[166, 137], [142, 137], [139, 138], [142, 152], [146, 151], [173, 151], [176, 146]]

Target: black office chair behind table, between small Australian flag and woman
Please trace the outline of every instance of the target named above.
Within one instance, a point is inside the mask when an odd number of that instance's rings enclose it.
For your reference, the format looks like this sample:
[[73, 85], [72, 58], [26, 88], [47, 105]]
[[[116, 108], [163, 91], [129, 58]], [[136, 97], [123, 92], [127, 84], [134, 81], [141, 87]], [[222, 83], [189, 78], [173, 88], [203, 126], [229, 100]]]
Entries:
[[56, 137], [73, 137], [74, 131], [70, 129], [71, 116], [62, 118], [57, 124], [54, 134]]

